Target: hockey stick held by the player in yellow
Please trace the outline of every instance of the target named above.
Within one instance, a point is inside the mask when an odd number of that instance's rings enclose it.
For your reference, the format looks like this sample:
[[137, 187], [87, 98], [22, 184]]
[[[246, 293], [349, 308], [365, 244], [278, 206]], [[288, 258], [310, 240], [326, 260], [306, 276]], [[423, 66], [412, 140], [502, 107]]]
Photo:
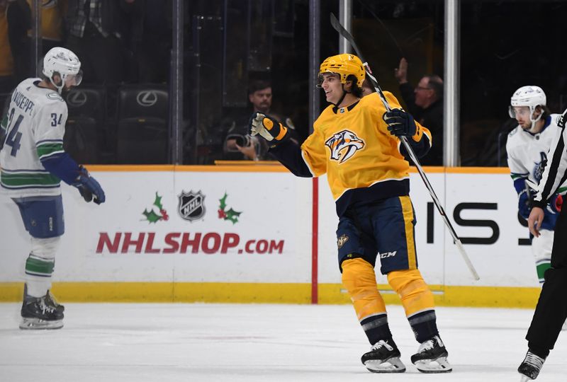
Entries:
[[[352, 38], [352, 35], [350, 33], [348, 33], [346, 29], [343, 28], [343, 26], [341, 25], [341, 23], [339, 23], [339, 21], [337, 20], [337, 18], [335, 17], [335, 15], [333, 13], [331, 13], [331, 25], [332, 25], [332, 28], [335, 28], [335, 30], [337, 30], [339, 35], [344, 37], [344, 39], [347, 40], [350, 43], [350, 45], [352, 45], [354, 51], [357, 52], [357, 56], [359, 57], [359, 59], [361, 59], [361, 61], [364, 62], [364, 70], [366, 71], [366, 76], [368, 76], [372, 85], [374, 86], [374, 91], [376, 91], [376, 93], [378, 93], [378, 96], [380, 96], [380, 99], [382, 100], [382, 103], [384, 104], [384, 107], [386, 108], [386, 110], [388, 110], [388, 111], [392, 110], [392, 108], [388, 104], [388, 100], [386, 100], [386, 96], [384, 96], [384, 93], [382, 92], [382, 89], [380, 88], [380, 85], [378, 85], [378, 81], [376, 80], [376, 77], [374, 77], [374, 75], [372, 74], [372, 71], [370, 70], [370, 66], [369, 66], [368, 62], [366, 62], [366, 60], [362, 57], [362, 54], [360, 54], [359, 47], [354, 42], [354, 38]], [[453, 228], [451, 221], [449, 221], [449, 218], [447, 217], [445, 210], [443, 209], [441, 203], [439, 202], [439, 198], [437, 198], [437, 195], [435, 194], [435, 191], [433, 190], [433, 187], [432, 187], [429, 179], [427, 179], [427, 176], [425, 175], [425, 172], [423, 171], [423, 168], [421, 167], [420, 162], [417, 161], [417, 156], [415, 156], [415, 153], [413, 152], [412, 148], [410, 147], [410, 144], [408, 143], [408, 139], [406, 139], [406, 137], [400, 137], [400, 141], [402, 142], [403, 146], [405, 147], [405, 151], [408, 152], [408, 155], [410, 156], [413, 163], [415, 164], [415, 167], [417, 168], [417, 172], [420, 173], [420, 176], [423, 180], [423, 183], [425, 183], [425, 187], [427, 187], [427, 191], [430, 192], [430, 195], [431, 195], [431, 198], [433, 199], [435, 207], [437, 207], [437, 211], [439, 211], [439, 214], [441, 214], [443, 221], [445, 222], [445, 225], [447, 226], [447, 228], [449, 228], [449, 232], [451, 233], [451, 236], [453, 236], [453, 242], [455, 243], [456, 248], [459, 249], [459, 252], [461, 253], [461, 256], [463, 257], [463, 260], [466, 263], [468, 270], [471, 271], [471, 274], [473, 275], [474, 279], [476, 279], [476, 280], [480, 279], [480, 277], [478, 277], [478, 273], [476, 273], [476, 270], [473, 266], [473, 263], [471, 262], [471, 259], [469, 259], [468, 255], [466, 254], [463, 243], [461, 243], [461, 239], [459, 238], [459, 236], [457, 236], [457, 234], [455, 232], [455, 228]]]

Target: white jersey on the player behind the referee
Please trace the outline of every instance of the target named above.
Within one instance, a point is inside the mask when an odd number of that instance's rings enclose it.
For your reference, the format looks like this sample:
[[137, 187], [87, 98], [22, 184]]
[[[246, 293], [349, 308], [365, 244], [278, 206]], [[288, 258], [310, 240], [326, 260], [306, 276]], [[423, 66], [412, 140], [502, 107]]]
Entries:
[[[510, 167], [510, 175], [515, 183], [523, 178], [535, 185], [539, 184], [548, 160], [551, 140], [560, 129], [557, 125], [560, 117], [561, 114], [551, 114], [545, 121], [544, 129], [537, 134], [531, 134], [520, 126], [508, 134], [506, 143], [508, 167]], [[557, 193], [567, 190], [564, 186], [559, 187]], [[524, 188], [523, 185], [522, 188]]]

